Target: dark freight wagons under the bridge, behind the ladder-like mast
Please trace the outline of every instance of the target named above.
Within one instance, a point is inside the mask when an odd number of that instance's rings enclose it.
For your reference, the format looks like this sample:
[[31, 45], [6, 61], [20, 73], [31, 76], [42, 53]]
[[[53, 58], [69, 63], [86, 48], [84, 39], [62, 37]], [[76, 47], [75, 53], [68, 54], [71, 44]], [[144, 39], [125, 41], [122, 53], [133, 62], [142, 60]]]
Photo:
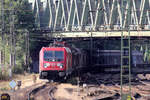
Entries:
[[[144, 53], [131, 51], [131, 71], [134, 73], [150, 72], [150, 63], [144, 61]], [[95, 50], [92, 55], [93, 66], [103, 72], [120, 72], [121, 50]]]

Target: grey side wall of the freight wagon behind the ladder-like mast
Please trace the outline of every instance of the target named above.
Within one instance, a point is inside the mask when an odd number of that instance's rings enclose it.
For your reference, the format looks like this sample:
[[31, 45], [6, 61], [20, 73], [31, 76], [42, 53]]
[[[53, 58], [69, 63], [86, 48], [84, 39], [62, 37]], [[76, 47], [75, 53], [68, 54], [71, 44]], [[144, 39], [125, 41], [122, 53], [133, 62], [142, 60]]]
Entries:
[[[95, 64], [102, 67], [113, 67], [121, 66], [121, 53], [120, 50], [100, 50], [96, 52]], [[140, 51], [133, 50], [131, 52], [131, 66], [141, 66], [143, 64], [148, 64], [143, 60], [143, 53]]]

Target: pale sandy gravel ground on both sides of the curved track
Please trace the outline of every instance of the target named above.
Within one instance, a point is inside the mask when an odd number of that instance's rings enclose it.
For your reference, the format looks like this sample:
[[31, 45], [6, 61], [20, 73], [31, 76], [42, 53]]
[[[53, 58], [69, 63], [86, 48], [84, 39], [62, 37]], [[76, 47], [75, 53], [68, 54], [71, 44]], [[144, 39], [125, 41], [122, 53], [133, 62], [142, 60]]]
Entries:
[[[36, 82], [35, 80], [36, 78]], [[90, 73], [83, 75], [81, 78], [84, 81], [79, 85], [69, 83], [61, 83], [57, 86], [54, 94], [56, 100], [94, 100], [107, 97], [115, 97], [112, 100], [117, 100], [120, 95], [120, 74], [96, 74]], [[47, 80], [38, 79], [38, 74], [26, 74], [16, 76], [13, 80], [21, 80], [22, 86], [15, 92], [12, 92], [9, 87], [9, 81], [0, 81], [0, 94], [9, 93], [11, 100], [26, 100], [25, 95], [33, 88], [41, 86]], [[44, 90], [43, 90], [44, 91]], [[37, 94], [43, 100], [42, 94]], [[150, 74], [132, 75], [132, 96], [136, 100], [150, 100]]]

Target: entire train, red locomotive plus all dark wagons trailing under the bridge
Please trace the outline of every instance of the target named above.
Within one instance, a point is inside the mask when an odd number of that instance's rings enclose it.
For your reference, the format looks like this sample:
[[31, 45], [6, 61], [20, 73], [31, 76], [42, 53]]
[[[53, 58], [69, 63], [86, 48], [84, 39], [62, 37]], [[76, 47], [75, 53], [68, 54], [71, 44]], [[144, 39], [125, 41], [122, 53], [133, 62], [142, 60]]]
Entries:
[[[39, 54], [40, 79], [66, 79], [82, 69], [99, 72], [120, 72], [121, 50], [83, 50], [65, 42], [55, 42], [42, 47]], [[150, 72], [150, 63], [144, 61], [144, 53], [131, 51], [131, 71]], [[92, 62], [92, 63], [91, 63]]]

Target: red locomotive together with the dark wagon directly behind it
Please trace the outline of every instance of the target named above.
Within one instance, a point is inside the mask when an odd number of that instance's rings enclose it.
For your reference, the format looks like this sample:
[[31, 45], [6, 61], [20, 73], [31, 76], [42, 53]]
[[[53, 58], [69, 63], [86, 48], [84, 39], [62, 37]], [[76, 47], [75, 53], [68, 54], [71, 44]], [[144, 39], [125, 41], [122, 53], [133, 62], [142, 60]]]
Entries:
[[75, 47], [68, 47], [64, 42], [57, 42], [50, 47], [43, 47], [39, 56], [41, 79], [67, 77], [73, 71], [86, 65], [86, 53]]

